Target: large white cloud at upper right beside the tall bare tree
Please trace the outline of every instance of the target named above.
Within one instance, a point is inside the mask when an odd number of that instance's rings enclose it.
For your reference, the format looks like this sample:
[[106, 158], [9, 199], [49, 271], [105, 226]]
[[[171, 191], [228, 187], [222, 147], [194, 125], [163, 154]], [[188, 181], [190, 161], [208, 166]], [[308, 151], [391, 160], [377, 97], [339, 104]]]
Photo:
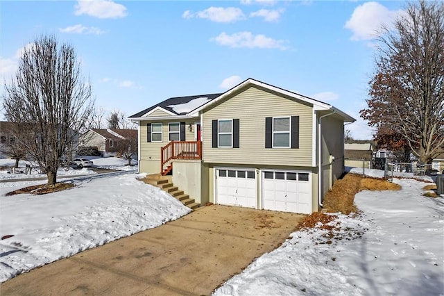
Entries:
[[393, 27], [393, 22], [402, 13], [402, 10], [388, 10], [377, 2], [367, 2], [355, 8], [344, 28], [353, 32], [351, 40], [370, 40], [377, 37], [382, 26]]

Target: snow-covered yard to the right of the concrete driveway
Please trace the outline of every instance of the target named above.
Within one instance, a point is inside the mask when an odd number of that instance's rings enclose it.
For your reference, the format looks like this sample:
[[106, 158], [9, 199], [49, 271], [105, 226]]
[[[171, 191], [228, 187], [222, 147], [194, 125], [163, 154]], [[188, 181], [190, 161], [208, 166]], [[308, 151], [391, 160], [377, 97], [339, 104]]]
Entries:
[[443, 295], [444, 199], [397, 182], [400, 191], [359, 192], [363, 212], [337, 215], [339, 229], [292, 233], [214, 295]]

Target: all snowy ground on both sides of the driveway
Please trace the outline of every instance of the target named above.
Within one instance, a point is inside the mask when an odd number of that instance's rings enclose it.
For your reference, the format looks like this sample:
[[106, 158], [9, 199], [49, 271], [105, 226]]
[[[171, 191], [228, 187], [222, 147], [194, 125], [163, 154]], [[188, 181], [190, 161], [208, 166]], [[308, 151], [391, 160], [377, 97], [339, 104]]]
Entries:
[[[0, 196], [0, 235], [15, 235], [0, 240], [0, 281], [190, 211], [135, 178], [82, 177], [64, 192]], [[427, 183], [394, 181], [402, 190], [359, 192], [359, 215], [337, 214], [331, 233], [320, 227], [292, 233], [214, 294], [444, 295], [444, 198], [422, 196]]]

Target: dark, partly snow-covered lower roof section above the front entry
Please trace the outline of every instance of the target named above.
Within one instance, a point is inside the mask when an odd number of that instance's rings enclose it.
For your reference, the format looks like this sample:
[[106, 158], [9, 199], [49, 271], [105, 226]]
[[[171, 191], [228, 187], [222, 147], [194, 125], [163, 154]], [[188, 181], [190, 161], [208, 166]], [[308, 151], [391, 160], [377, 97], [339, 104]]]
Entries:
[[159, 104], [151, 106], [145, 110], [140, 111], [128, 118], [144, 117], [149, 115], [154, 110], [164, 110], [166, 113], [171, 115], [187, 115], [191, 113], [196, 108], [205, 105], [219, 97], [221, 94], [198, 94], [194, 96], [187, 97], [172, 97], [161, 101]]

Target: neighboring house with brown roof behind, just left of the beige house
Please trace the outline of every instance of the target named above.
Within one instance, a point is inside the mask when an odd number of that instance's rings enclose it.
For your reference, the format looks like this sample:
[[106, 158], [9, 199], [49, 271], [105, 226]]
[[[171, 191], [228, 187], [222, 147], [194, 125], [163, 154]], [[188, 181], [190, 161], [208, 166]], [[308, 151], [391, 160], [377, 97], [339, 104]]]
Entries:
[[137, 144], [136, 129], [89, 129], [80, 137], [80, 150], [85, 147], [99, 151], [102, 156], [115, 156], [122, 149], [122, 144], [129, 147]]

